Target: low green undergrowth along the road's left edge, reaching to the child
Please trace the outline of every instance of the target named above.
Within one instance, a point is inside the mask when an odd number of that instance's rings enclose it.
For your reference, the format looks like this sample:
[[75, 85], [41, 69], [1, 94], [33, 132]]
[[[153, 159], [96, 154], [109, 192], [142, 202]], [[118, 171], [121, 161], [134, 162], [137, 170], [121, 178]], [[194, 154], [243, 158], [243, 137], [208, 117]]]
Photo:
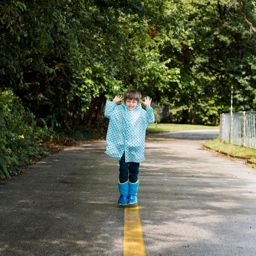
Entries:
[[[86, 126], [74, 126], [73, 129], [47, 128], [43, 119], [36, 121], [33, 113], [20, 103], [11, 90], [0, 92], [0, 180], [11, 178], [22, 168], [51, 155], [58, 145], [70, 145], [75, 141], [101, 139], [102, 132]], [[58, 150], [58, 147], [57, 147]]]

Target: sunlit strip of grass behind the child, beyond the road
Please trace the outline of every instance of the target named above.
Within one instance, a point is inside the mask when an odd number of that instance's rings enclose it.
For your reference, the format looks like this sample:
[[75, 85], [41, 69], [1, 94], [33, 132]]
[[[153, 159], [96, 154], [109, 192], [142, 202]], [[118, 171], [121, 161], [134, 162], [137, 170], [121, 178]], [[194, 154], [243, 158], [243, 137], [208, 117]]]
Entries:
[[194, 125], [194, 124], [150, 124], [148, 126], [147, 132], [179, 132], [187, 130], [209, 130], [209, 129], [219, 129], [219, 126], [204, 126], [204, 125]]

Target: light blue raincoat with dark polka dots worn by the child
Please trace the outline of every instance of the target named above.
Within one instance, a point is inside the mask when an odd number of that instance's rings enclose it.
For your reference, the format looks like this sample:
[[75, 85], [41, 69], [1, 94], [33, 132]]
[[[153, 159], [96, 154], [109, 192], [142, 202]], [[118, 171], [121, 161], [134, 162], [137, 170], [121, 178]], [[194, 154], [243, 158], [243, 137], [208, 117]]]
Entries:
[[139, 103], [128, 110], [125, 103], [107, 101], [104, 115], [109, 119], [105, 153], [118, 160], [125, 153], [125, 162], [144, 162], [146, 129], [155, 122], [153, 109], [144, 110]]

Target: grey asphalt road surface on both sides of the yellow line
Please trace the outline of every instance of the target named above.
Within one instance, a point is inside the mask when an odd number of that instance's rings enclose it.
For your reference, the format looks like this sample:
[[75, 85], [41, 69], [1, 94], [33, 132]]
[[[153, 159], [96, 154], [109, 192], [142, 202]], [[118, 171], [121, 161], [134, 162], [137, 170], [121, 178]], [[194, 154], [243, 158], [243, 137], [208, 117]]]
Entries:
[[[204, 150], [202, 133], [146, 139], [138, 204], [147, 256], [256, 255], [256, 170]], [[0, 255], [123, 255], [119, 164], [105, 147], [76, 144], [2, 182]]]

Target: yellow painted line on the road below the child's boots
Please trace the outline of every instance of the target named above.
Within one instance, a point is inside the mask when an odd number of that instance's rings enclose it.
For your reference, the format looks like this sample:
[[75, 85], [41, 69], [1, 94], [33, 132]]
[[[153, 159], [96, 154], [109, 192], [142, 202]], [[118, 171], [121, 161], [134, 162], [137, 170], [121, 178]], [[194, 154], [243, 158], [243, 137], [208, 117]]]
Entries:
[[124, 256], [145, 256], [139, 206], [124, 208]]

